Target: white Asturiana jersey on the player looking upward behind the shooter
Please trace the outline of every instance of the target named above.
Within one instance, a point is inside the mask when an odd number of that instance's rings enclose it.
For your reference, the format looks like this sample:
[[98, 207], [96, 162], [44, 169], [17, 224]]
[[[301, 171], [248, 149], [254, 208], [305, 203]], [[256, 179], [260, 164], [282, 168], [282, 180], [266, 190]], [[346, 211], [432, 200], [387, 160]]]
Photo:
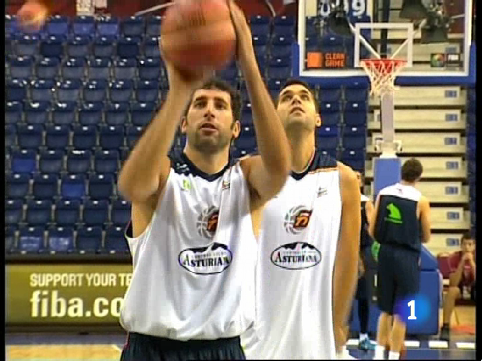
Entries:
[[333, 360], [333, 268], [340, 233], [336, 160], [316, 152], [263, 214], [256, 322], [241, 335], [246, 358]]

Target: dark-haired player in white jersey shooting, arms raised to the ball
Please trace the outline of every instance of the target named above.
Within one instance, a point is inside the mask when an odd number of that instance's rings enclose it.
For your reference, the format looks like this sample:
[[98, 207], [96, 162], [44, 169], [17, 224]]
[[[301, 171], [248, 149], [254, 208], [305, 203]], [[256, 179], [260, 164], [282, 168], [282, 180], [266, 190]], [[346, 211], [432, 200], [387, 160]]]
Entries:
[[[170, 90], [119, 177], [132, 201], [126, 230], [133, 276], [120, 322], [123, 361], [240, 360], [255, 318], [257, 226], [291, 161], [281, 121], [257, 67], [241, 9], [229, 1], [260, 156], [229, 159], [240, 133], [239, 95], [166, 64]], [[181, 123], [187, 142], [168, 157]]]

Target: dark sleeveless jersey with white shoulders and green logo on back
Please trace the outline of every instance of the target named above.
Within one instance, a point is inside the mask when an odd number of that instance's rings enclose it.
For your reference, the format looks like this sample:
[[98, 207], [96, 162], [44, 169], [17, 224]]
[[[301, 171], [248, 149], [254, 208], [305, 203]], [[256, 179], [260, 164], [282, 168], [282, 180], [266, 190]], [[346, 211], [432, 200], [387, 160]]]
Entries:
[[418, 201], [422, 194], [415, 187], [400, 183], [380, 191], [375, 222], [375, 240], [420, 252]]

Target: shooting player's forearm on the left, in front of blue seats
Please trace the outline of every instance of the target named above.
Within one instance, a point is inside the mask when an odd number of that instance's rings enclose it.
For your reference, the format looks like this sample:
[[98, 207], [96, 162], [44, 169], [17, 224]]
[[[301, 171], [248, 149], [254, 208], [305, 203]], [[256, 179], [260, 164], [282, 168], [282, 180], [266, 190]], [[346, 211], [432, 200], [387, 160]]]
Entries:
[[127, 199], [142, 202], [158, 190], [163, 162], [189, 96], [187, 92], [170, 91], [161, 111], [137, 141], [119, 175], [119, 190]]

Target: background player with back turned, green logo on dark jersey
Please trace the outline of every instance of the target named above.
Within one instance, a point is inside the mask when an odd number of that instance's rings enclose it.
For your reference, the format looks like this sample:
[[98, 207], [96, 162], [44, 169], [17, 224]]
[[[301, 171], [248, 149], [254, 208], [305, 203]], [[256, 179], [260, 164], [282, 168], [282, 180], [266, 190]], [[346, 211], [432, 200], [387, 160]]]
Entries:
[[[430, 205], [415, 189], [423, 167], [415, 158], [402, 165], [402, 181], [380, 191], [369, 231], [380, 247], [377, 302], [378, 319], [375, 360], [383, 360], [385, 346], [389, 358], [397, 360], [405, 338], [405, 323], [395, 314], [398, 301], [418, 293], [421, 242], [430, 240]], [[390, 330], [390, 326], [393, 326]]]

